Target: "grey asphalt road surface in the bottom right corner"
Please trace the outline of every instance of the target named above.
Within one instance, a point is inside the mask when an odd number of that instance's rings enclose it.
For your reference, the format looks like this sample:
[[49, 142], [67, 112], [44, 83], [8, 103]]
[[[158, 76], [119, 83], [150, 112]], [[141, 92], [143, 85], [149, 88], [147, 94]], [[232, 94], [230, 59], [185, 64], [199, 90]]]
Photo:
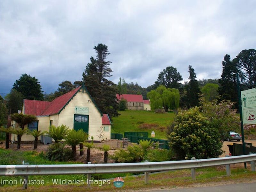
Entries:
[[220, 186], [209, 186], [209, 187], [193, 187], [193, 188], [174, 188], [174, 189], [163, 189], [163, 190], [149, 190], [150, 192], [255, 192], [256, 183], [238, 183], [228, 184]]

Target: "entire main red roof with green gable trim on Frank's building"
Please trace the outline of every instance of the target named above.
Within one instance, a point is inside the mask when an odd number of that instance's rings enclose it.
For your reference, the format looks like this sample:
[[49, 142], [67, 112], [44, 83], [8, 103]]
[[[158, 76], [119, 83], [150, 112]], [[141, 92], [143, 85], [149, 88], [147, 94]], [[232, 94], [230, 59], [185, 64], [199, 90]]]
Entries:
[[[24, 100], [24, 103], [23, 103], [24, 113], [29, 115], [35, 115], [35, 116], [49, 116], [49, 115], [60, 113], [62, 109], [64, 109], [65, 106], [68, 105], [68, 103], [73, 99], [73, 97], [76, 96], [76, 93], [79, 92], [81, 88], [83, 87], [79, 86], [76, 89], [70, 92], [67, 92], [64, 95], [61, 95], [60, 97], [55, 98], [51, 102], [38, 101], [38, 100]], [[103, 116], [100, 109], [97, 107], [97, 105], [93, 101], [88, 91], [86, 89], [84, 89], [84, 91], [89, 95], [95, 107], [100, 112], [101, 116]]]

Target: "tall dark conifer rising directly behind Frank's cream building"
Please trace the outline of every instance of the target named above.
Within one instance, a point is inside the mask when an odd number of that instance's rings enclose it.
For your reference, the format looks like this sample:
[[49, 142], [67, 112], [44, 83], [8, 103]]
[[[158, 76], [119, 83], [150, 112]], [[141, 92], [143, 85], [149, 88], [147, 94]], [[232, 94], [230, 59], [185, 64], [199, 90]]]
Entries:
[[112, 76], [110, 61], [106, 61], [108, 56], [108, 46], [98, 44], [95, 46], [96, 59], [90, 58], [83, 72], [83, 81], [88, 92], [91, 94], [102, 113], [107, 113], [109, 117], [118, 116], [118, 103], [116, 101], [116, 86], [113, 82], [106, 79]]

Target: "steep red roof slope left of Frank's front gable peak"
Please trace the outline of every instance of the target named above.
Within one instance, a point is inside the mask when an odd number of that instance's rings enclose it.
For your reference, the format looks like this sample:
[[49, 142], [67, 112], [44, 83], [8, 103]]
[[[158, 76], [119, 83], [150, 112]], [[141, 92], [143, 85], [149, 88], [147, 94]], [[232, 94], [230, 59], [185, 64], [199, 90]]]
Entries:
[[61, 95], [60, 97], [55, 98], [49, 107], [41, 114], [41, 116], [44, 115], [53, 115], [56, 113], [59, 113], [60, 110], [68, 103], [68, 101], [75, 95], [75, 93], [81, 88], [77, 87], [76, 89], [67, 92], [64, 95]]

